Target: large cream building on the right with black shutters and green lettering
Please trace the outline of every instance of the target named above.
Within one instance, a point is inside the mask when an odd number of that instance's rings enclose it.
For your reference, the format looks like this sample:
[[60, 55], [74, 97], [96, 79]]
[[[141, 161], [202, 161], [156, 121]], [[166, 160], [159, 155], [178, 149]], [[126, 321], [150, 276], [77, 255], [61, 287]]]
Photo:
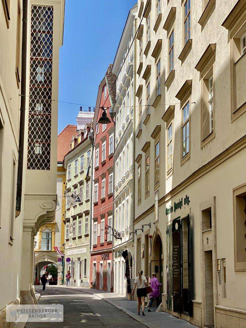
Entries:
[[199, 327], [246, 321], [245, 6], [138, 1], [135, 272]]

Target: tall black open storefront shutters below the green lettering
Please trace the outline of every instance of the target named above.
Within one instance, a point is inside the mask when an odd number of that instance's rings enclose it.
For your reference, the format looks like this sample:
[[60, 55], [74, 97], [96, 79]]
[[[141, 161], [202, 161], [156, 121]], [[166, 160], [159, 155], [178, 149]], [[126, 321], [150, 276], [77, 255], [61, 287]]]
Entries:
[[172, 224], [174, 312], [192, 315], [191, 233], [189, 215]]

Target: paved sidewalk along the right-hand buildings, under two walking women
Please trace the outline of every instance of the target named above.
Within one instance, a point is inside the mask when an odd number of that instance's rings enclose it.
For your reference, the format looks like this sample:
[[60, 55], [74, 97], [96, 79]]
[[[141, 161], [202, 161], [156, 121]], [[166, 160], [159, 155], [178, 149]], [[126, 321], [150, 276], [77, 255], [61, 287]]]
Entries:
[[[145, 308], [145, 317], [142, 315], [137, 315], [137, 302], [128, 301], [126, 297], [119, 296], [114, 293], [104, 292], [97, 289], [88, 289], [81, 287], [66, 287], [62, 285], [57, 285], [61, 288], [70, 288], [74, 290], [79, 290], [88, 294], [92, 294], [99, 299], [103, 299], [106, 302], [112, 304], [119, 310], [125, 312], [128, 316], [133, 319], [141, 322], [143, 325], [149, 328], [195, 328], [195, 325], [190, 324], [189, 322], [173, 317], [169, 313], [165, 312], [155, 312], [156, 308], [151, 308], [151, 312], [148, 312]], [[141, 312], [140, 312], [141, 313]]]

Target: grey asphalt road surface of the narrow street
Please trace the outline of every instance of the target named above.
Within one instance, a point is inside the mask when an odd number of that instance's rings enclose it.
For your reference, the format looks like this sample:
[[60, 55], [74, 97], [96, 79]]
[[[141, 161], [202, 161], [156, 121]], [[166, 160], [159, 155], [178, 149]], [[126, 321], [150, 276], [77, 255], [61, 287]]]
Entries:
[[63, 304], [63, 322], [29, 322], [25, 328], [99, 328], [99, 327], [145, 327], [138, 321], [130, 318], [124, 312], [104, 300], [96, 299], [93, 295], [79, 290], [46, 286], [35, 286], [41, 294], [39, 304]]

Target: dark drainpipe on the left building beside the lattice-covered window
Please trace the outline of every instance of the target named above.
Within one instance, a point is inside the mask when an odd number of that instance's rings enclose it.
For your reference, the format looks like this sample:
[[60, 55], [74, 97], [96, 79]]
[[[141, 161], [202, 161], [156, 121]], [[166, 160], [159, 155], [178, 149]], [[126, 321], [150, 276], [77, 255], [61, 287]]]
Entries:
[[22, 178], [23, 178], [23, 154], [25, 138], [25, 112], [26, 112], [26, 84], [27, 84], [27, 10], [28, 0], [23, 0], [22, 18], [22, 47], [21, 47], [21, 104], [20, 104], [20, 128], [19, 128], [19, 156], [17, 171], [17, 190], [15, 217], [21, 212]]

